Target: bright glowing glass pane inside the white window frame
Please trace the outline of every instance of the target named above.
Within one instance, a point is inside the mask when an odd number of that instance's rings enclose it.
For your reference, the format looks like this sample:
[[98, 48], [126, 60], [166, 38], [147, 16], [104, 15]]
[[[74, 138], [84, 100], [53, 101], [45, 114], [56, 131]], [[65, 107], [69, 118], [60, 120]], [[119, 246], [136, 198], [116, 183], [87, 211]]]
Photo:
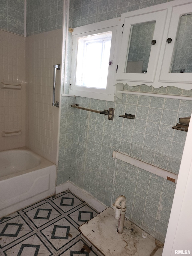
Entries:
[[78, 39], [76, 86], [106, 89], [112, 31]]

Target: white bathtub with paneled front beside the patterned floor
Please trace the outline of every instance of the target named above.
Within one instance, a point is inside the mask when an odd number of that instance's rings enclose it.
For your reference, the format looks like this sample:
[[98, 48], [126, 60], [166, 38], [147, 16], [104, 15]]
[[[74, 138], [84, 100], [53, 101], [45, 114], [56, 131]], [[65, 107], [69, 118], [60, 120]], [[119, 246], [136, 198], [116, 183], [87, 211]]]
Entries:
[[26, 147], [0, 152], [0, 217], [55, 193], [56, 166]]

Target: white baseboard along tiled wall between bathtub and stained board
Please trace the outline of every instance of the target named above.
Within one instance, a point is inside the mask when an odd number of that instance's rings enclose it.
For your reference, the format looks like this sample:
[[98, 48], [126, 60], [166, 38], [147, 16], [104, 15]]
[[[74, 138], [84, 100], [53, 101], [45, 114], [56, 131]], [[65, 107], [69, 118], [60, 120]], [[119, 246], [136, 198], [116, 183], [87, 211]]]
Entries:
[[101, 203], [100, 201], [98, 201], [97, 199], [95, 199], [90, 194], [88, 194], [85, 190], [82, 190], [81, 188], [77, 187], [70, 181], [67, 181], [66, 183], [56, 186], [55, 194], [59, 194], [67, 189], [70, 190], [73, 194], [75, 194], [79, 198], [81, 198], [83, 201], [88, 203], [91, 207], [93, 207], [98, 212], [102, 212], [108, 207], [103, 203]]

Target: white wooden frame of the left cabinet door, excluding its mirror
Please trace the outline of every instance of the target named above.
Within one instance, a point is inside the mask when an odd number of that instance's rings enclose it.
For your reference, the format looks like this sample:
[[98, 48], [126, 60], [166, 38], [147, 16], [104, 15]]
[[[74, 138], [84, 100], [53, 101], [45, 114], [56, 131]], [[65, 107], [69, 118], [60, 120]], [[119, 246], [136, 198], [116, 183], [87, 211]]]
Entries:
[[[122, 45], [121, 45], [121, 53], [120, 60], [117, 72], [117, 80], [118, 81], [138, 81], [138, 82], [154, 82], [159, 53], [161, 49], [162, 37], [164, 33], [164, 27], [167, 17], [167, 10], [155, 11], [151, 13], [146, 13], [143, 15], [136, 15], [133, 17], [126, 17], [126, 14], [122, 15], [122, 22], [124, 23], [123, 29], [123, 37], [122, 37]], [[124, 17], [123, 17], [124, 16]], [[148, 69], [146, 74], [139, 73], [125, 73], [125, 67], [127, 65], [126, 54], [129, 50], [129, 38], [131, 27], [133, 25], [142, 24], [150, 21], [155, 21], [155, 30], [153, 39], [156, 40], [156, 44], [151, 46], [151, 53], [149, 57]], [[121, 22], [121, 23], [122, 23]]]

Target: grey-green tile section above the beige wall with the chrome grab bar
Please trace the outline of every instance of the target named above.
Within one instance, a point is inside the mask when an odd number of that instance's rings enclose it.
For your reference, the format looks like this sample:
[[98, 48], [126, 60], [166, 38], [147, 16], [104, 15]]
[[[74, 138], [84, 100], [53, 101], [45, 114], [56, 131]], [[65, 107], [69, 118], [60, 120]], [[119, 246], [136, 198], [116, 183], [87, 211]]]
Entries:
[[61, 29], [63, 0], [27, 0], [27, 36]]

